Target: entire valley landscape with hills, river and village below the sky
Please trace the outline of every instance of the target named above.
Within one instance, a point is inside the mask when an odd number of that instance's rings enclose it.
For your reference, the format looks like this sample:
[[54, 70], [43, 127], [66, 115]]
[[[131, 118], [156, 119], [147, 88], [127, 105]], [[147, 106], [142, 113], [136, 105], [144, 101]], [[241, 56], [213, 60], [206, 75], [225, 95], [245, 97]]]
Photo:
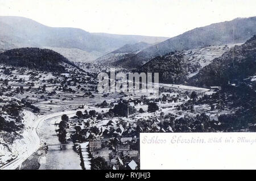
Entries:
[[[42, 36], [22, 26], [33, 41], [23, 40], [17, 21]], [[168, 40], [0, 22], [18, 31], [0, 27], [0, 169], [138, 170], [140, 133], [256, 131], [255, 17]], [[100, 93], [97, 76], [110, 68], [159, 73], [159, 94]]]

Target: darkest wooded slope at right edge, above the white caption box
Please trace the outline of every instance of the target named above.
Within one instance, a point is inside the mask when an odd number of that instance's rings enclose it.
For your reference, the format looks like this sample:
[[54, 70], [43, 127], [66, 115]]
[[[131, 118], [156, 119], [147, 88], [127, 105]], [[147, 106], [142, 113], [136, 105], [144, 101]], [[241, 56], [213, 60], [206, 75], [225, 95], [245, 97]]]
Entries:
[[[221, 86], [221, 90], [203, 96], [195, 102], [198, 106], [209, 104], [211, 110], [223, 111], [218, 117], [226, 132], [255, 132], [256, 130], [256, 36], [241, 46], [234, 47], [197, 75], [189, 84]], [[191, 106], [192, 103], [186, 106]]]

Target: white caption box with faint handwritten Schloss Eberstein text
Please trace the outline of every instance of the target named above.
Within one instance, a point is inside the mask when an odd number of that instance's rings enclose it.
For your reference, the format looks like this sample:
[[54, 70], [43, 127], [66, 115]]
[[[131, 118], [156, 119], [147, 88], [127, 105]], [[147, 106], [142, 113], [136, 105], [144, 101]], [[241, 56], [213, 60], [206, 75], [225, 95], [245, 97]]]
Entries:
[[141, 169], [256, 169], [256, 133], [141, 133]]

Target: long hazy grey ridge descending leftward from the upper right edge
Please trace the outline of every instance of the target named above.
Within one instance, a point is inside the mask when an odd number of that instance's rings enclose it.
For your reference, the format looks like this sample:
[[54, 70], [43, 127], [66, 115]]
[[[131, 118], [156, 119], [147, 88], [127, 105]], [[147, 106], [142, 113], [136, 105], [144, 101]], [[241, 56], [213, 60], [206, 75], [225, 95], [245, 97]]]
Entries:
[[[234, 33], [233, 33], [234, 32]], [[237, 18], [229, 22], [215, 23], [196, 28], [162, 43], [152, 45], [133, 57], [120, 60], [117, 65], [123, 68], [137, 68], [151, 58], [163, 56], [175, 50], [187, 50], [209, 45], [243, 43], [256, 34], [256, 17]]]

